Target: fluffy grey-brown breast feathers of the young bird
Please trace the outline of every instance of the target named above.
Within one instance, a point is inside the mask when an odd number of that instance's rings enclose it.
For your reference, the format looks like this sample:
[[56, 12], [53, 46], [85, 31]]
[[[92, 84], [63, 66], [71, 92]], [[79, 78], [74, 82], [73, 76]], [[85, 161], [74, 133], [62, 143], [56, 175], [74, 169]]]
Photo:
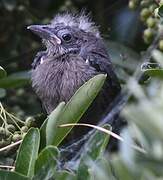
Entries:
[[80, 56], [44, 60], [32, 70], [32, 85], [40, 98], [68, 101], [74, 92], [97, 71]]

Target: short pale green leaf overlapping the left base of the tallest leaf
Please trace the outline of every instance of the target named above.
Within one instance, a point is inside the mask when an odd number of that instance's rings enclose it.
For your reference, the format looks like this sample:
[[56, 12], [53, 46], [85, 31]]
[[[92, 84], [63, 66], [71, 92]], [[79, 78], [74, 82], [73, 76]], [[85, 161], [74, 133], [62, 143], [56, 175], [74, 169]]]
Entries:
[[57, 128], [55, 120], [60, 118], [64, 107], [65, 107], [65, 103], [61, 102], [49, 116], [49, 119], [46, 125], [46, 144], [47, 145], [53, 144], [54, 131]]

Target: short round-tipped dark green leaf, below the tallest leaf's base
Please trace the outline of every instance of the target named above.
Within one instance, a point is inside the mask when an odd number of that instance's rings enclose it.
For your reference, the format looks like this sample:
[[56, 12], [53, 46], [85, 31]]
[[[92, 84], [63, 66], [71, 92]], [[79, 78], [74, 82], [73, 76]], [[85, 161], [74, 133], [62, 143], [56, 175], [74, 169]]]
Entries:
[[57, 159], [59, 157], [59, 150], [55, 146], [45, 147], [39, 154], [36, 164], [35, 164], [35, 174], [44, 170], [45, 166], [49, 166], [47, 174], [49, 171], [53, 171], [57, 164]]

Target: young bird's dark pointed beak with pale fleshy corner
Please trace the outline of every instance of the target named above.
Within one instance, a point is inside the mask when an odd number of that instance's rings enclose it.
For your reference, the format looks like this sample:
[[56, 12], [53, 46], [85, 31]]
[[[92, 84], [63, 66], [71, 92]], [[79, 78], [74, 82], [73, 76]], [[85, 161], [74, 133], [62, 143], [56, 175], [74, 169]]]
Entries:
[[43, 39], [53, 40], [57, 44], [61, 44], [61, 40], [52, 32], [52, 28], [49, 25], [30, 25], [27, 29]]

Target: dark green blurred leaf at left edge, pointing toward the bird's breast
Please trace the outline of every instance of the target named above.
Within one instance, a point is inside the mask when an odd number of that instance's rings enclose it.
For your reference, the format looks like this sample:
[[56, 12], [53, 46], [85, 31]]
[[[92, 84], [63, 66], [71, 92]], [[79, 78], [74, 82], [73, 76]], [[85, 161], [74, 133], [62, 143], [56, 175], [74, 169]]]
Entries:
[[30, 74], [28, 71], [14, 73], [0, 80], [0, 88], [22, 87], [29, 83], [29, 79]]

